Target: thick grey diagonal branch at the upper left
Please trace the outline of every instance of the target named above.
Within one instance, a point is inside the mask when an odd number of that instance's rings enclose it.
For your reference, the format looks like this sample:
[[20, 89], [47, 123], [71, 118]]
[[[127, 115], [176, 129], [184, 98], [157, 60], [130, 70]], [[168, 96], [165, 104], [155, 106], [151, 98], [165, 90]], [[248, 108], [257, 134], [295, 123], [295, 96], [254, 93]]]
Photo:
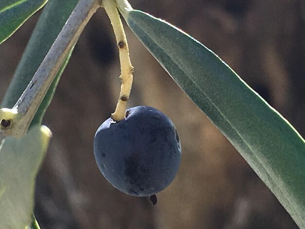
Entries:
[[7, 129], [0, 128], [1, 138], [5, 135], [22, 136], [27, 133], [29, 125], [59, 68], [89, 19], [99, 7], [99, 0], [79, 0], [31, 82], [13, 107], [12, 110], [17, 110], [18, 114], [12, 120], [12, 125]]

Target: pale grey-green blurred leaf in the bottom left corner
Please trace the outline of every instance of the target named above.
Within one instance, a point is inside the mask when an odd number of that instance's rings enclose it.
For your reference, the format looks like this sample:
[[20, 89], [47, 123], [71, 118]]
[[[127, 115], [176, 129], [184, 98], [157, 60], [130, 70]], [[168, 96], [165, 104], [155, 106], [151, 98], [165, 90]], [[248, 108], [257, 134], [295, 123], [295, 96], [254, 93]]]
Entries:
[[0, 143], [0, 228], [24, 229], [32, 221], [34, 187], [51, 131], [37, 125], [22, 138]]

